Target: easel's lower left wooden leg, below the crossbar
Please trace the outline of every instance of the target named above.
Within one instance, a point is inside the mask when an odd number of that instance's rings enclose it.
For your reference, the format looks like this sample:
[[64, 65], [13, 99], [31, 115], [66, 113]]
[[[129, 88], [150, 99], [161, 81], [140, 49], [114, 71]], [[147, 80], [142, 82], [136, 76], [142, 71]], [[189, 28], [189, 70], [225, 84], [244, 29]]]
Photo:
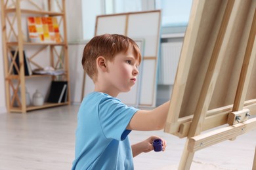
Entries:
[[188, 139], [186, 139], [186, 144], [181, 156], [181, 161], [179, 164], [179, 170], [189, 170], [191, 163], [193, 161], [194, 152], [188, 152]]

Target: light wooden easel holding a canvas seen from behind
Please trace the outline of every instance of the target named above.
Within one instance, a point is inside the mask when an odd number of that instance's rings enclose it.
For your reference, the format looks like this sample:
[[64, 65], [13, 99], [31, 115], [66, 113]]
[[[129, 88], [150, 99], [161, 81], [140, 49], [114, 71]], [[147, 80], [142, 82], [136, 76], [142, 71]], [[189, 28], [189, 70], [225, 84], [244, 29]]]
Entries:
[[197, 150], [256, 129], [255, 36], [256, 1], [193, 1], [165, 126], [187, 137], [180, 170]]

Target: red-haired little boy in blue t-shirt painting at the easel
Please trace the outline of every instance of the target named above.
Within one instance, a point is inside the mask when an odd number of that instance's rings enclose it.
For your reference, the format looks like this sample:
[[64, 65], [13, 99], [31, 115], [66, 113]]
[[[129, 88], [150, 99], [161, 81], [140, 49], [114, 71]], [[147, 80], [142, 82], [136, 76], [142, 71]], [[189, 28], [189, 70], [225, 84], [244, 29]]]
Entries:
[[79, 108], [72, 169], [134, 169], [133, 157], [150, 152], [152, 141], [161, 139], [152, 136], [131, 146], [127, 135], [131, 130], [163, 129], [169, 101], [153, 110], [139, 110], [116, 98], [135, 84], [140, 61], [139, 47], [123, 35], [96, 36], [85, 46], [82, 65], [95, 91]]

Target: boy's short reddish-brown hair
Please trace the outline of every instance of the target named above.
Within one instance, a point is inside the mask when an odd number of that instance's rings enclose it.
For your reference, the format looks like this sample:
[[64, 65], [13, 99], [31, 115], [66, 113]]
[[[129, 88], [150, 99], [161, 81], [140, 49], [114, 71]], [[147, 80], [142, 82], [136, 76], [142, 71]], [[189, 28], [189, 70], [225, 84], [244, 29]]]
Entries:
[[103, 56], [107, 60], [112, 61], [116, 54], [125, 54], [129, 47], [133, 48], [133, 55], [140, 63], [141, 54], [139, 46], [129, 37], [118, 34], [104, 34], [93, 37], [83, 49], [83, 69], [95, 82], [98, 75], [96, 59], [99, 56]]

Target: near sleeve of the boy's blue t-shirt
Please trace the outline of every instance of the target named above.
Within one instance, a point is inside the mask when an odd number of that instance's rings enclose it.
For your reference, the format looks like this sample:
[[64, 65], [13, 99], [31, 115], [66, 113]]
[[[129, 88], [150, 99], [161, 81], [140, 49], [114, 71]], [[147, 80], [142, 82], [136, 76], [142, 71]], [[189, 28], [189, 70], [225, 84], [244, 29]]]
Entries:
[[105, 137], [118, 141], [124, 140], [131, 132], [126, 127], [137, 110], [114, 97], [102, 99], [98, 107], [98, 118]]

